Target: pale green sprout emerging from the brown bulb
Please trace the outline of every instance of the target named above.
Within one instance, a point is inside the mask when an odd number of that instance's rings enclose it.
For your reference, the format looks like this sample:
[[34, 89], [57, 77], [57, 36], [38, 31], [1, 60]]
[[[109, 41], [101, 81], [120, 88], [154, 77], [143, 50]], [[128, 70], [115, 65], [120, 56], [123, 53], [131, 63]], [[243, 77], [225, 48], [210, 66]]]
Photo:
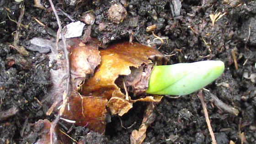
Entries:
[[155, 66], [146, 93], [187, 95], [213, 82], [223, 71], [224, 63], [214, 60]]

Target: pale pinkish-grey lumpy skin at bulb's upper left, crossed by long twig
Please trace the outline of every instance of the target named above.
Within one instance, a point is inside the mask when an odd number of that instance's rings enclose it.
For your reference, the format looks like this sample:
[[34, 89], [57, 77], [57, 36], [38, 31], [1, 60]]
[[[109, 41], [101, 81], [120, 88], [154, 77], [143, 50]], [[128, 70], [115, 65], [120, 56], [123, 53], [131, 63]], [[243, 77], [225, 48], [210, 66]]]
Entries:
[[[50, 104], [52, 107], [47, 112], [50, 115], [51, 112], [56, 110], [56, 105], [62, 101], [63, 92], [66, 90], [66, 62], [63, 58], [63, 53], [59, 52], [63, 49], [62, 45], [59, 45], [57, 49], [53, 41], [47, 41], [51, 46], [52, 53], [48, 54], [50, 63], [54, 64], [54, 68], [50, 70], [53, 87], [48, 91], [50, 97]], [[70, 60], [70, 76], [71, 76], [71, 91], [76, 90], [77, 86], [85, 80], [89, 75], [93, 74], [95, 67], [100, 63], [101, 57], [98, 51], [98, 44], [93, 40], [88, 40], [88, 43], [80, 43], [78, 38], [71, 38], [67, 40], [69, 48], [69, 60]], [[68, 96], [67, 96], [68, 97]]]

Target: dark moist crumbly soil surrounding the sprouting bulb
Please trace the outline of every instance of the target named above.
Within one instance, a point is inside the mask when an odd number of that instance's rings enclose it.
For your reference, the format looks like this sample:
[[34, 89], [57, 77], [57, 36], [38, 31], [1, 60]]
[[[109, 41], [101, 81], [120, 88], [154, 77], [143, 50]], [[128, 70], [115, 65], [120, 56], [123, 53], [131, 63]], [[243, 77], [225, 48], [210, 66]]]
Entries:
[[[91, 37], [103, 45], [133, 40], [159, 48], [169, 57], [170, 64], [222, 60], [224, 74], [205, 88], [229, 107], [238, 109], [239, 114], [235, 116], [219, 108], [203, 92], [215, 138], [218, 144], [231, 140], [235, 144], [255, 143], [256, 1], [183, 0], [179, 16], [171, 11], [176, 0], [74, 1], [74, 5], [69, 5], [71, 0], [53, 0], [62, 26], [72, 22], [70, 18], [83, 19], [83, 13], [91, 11], [96, 18], [91, 21]], [[33, 0], [0, 1], [0, 144], [35, 143], [38, 133], [26, 135], [32, 131], [31, 124], [39, 119], [54, 120], [54, 114], [46, 115], [49, 104], [45, 99], [52, 87], [48, 53], [28, 50], [29, 54], [24, 56], [10, 46], [14, 44], [15, 21], [21, 14], [21, 5], [25, 12], [18, 30], [18, 46], [27, 48], [33, 37], [56, 39], [58, 24], [50, 3], [41, 0], [41, 4], [44, 8], [36, 7]], [[108, 17], [108, 10], [115, 4], [124, 8], [112, 10], [121, 15]], [[222, 17], [213, 26], [209, 15], [219, 12]], [[154, 24], [155, 35], [165, 37], [162, 46], [159, 38], [146, 32], [146, 27]], [[245, 78], [245, 73], [251, 79]], [[165, 96], [155, 104], [155, 121], [147, 128], [143, 143], [211, 144], [197, 95], [198, 91], [178, 98]], [[146, 106], [146, 102], [137, 102], [123, 117], [111, 116], [105, 136], [89, 133], [85, 127], [65, 129], [63, 121], [59, 122], [60, 128], [69, 131], [73, 139], [83, 138], [86, 144], [129, 144], [130, 134], [139, 128]]]

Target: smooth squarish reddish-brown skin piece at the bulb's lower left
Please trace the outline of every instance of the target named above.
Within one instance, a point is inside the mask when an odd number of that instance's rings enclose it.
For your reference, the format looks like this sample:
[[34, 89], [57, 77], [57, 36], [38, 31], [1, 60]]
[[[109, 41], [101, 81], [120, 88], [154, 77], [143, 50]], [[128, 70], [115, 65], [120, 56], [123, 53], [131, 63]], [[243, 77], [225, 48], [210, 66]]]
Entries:
[[78, 93], [69, 97], [62, 117], [75, 121], [75, 125], [86, 126], [90, 130], [105, 132], [107, 99], [98, 96], [80, 96]]

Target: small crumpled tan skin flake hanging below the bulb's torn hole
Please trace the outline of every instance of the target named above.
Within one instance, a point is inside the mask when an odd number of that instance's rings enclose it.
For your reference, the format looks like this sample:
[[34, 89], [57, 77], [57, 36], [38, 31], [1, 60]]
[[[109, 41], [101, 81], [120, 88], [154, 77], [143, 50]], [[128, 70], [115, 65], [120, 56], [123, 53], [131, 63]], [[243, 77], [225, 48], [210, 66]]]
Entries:
[[107, 107], [110, 109], [112, 114], [118, 113], [119, 116], [123, 116], [123, 114], [128, 112], [133, 107], [133, 104], [127, 100], [124, 100], [123, 98], [112, 97], [107, 102]]

